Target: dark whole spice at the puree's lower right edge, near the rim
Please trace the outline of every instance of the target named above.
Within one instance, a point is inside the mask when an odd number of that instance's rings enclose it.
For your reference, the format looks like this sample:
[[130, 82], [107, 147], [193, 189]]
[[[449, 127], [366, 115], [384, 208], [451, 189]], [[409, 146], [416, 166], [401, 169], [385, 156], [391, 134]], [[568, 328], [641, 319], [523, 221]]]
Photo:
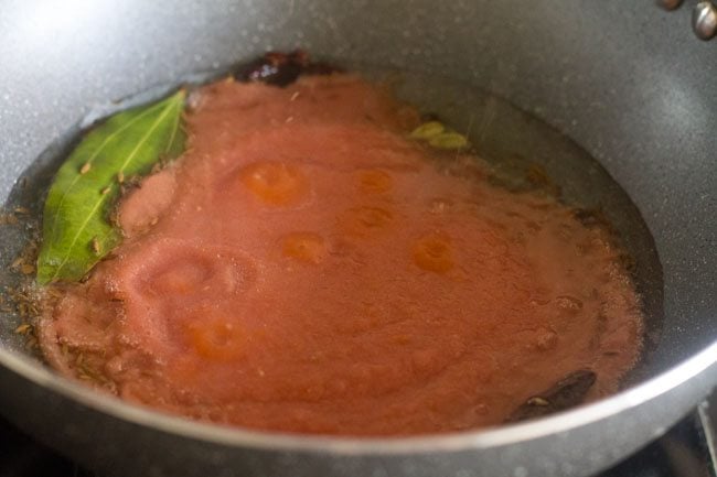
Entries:
[[505, 422], [526, 421], [574, 408], [582, 402], [595, 380], [596, 373], [589, 369], [574, 371], [552, 388], [531, 397]]

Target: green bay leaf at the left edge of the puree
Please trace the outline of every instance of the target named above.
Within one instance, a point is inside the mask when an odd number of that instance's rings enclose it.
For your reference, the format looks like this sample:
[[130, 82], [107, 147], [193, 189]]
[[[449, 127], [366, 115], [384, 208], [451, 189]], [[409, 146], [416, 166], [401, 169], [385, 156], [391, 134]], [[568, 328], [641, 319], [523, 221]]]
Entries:
[[120, 241], [109, 220], [119, 177], [143, 175], [184, 150], [185, 93], [119, 112], [90, 130], [57, 171], [45, 202], [38, 283], [77, 281]]

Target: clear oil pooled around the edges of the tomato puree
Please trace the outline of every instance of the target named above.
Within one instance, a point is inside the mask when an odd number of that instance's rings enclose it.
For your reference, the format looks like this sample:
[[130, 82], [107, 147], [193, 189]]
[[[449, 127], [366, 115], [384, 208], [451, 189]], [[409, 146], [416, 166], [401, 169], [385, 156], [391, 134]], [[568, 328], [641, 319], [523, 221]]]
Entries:
[[[333, 63], [346, 65], [341, 61]], [[662, 268], [640, 212], [607, 171], [571, 139], [490, 91], [437, 75], [392, 71], [367, 64], [346, 66], [372, 80], [392, 84], [400, 99], [417, 105], [424, 112], [439, 115], [441, 120], [465, 133], [479, 155], [492, 163], [506, 180], [513, 181], [514, 186], [521, 187], [526, 172], [538, 165], [559, 186], [563, 202], [599, 209], [607, 216], [618, 232], [621, 246], [634, 259], [633, 279], [642, 297], [646, 321], [644, 358], [628, 377], [625, 384], [651, 376], [650, 357], [656, 348], [663, 324]], [[214, 76], [216, 73], [195, 74], [183, 83], [203, 83]], [[165, 87], [145, 91], [113, 104], [103, 112], [111, 113], [165, 91]], [[101, 116], [101, 112], [94, 116]], [[0, 227], [0, 286], [6, 291], [17, 288], [23, 280], [10, 265], [25, 245], [38, 237], [45, 192], [63, 159], [77, 142], [79, 124], [86, 123], [87, 118], [53, 142], [22, 173], [8, 196], [4, 204], [7, 210], [24, 207], [30, 214], [20, 216], [18, 225]], [[40, 359], [36, 351], [25, 346], [25, 337], [15, 333], [22, 317], [8, 306], [1, 313], [0, 345]]]

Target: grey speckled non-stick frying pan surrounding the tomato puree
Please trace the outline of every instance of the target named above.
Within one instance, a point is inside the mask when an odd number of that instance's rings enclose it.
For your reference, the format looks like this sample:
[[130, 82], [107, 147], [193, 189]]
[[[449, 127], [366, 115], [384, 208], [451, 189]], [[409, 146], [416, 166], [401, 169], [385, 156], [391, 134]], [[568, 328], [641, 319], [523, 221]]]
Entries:
[[[472, 104], [479, 119], [494, 118], [489, 126], [550, 124], [531, 140], [489, 129], [484, 153], [518, 144], [568, 195], [577, 181], [584, 199], [603, 208], [635, 257], [649, 336], [625, 389], [597, 403], [483, 431], [352, 440], [223, 429], [97, 395], [25, 353], [8, 314], [0, 412], [108, 475], [581, 476], [632, 453], [717, 384], [717, 46], [696, 40], [688, 18], [686, 8], [621, 0], [3, 2], [3, 200], [36, 206], [56, 167], [51, 158], [89, 111], [302, 46], [484, 91]], [[553, 140], [561, 145], [548, 154], [542, 144]], [[570, 162], [584, 153], [597, 162]], [[1, 234], [0, 279], [10, 285], [8, 264], [29, 230]]]

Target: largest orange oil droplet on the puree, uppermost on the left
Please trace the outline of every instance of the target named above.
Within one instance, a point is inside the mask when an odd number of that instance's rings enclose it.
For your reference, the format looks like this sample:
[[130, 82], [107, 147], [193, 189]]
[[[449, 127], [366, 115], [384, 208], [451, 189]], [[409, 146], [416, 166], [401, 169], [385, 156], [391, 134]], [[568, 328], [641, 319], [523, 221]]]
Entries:
[[309, 194], [309, 180], [293, 164], [257, 162], [239, 172], [242, 183], [265, 204], [295, 205]]

